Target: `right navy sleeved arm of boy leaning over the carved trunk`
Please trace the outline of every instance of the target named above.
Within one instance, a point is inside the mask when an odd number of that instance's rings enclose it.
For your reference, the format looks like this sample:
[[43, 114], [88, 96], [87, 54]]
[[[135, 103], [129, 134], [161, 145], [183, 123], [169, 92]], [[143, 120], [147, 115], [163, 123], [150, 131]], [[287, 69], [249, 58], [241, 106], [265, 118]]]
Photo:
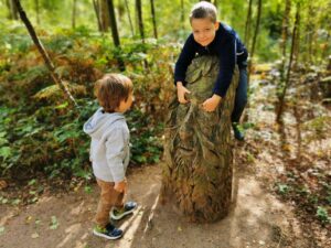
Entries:
[[220, 73], [214, 86], [213, 93], [222, 98], [226, 95], [227, 88], [232, 82], [236, 65], [236, 40], [235, 35], [228, 35], [220, 53]]

